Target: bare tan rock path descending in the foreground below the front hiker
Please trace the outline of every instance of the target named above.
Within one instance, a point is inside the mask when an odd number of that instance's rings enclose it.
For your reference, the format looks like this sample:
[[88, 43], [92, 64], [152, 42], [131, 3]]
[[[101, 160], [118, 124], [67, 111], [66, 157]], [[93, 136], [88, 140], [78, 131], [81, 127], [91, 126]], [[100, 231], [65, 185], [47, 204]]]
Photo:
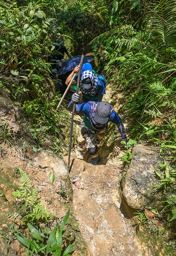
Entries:
[[130, 222], [117, 201], [120, 172], [118, 168], [92, 166], [72, 156], [73, 208], [92, 255], [141, 255]]

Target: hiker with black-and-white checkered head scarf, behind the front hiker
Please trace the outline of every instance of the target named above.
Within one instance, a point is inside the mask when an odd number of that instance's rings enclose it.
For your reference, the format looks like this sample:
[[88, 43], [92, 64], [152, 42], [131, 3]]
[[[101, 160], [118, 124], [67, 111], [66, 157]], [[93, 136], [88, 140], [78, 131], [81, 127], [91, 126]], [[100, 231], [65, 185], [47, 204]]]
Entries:
[[[76, 66], [75, 69], [67, 77], [67, 80], [65, 81], [66, 85], [69, 85], [74, 73], [77, 73], [78, 71], [79, 71], [79, 65]], [[82, 65], [80, 91], [82, 94], [83, 102], [88, 102], [90, 100], [100, 102], [102, 101], [103, 95], [106, 94], [105, 84], [99, 78], [99, 75], [95, 74], [94, 72], [95, 71], [93, 71], [92, 66], [89, 63], [85, 63]], [[77, 82], [77, 76], [75, 77], [73, 84], [76, 82]], [[76, 85], [74, 89], [76, 91]]]

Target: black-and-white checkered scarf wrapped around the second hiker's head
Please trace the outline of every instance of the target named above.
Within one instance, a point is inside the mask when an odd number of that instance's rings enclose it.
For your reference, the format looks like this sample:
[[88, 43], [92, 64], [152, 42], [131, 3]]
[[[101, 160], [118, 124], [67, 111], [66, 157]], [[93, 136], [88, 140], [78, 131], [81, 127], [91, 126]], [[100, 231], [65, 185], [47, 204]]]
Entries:
[[[86, 78], [90, 78], [91, 82], [92, 82], [92, 88], [90, 89], [84, 89], [82, 88], [82, 81]], [[92, 91], [95, 90], [95, 88], [98, 85], [98, 77], [91, 71], [91, 70], [85, 70], [82, 73], [82, 77], [81, 77], [81, 82], [80, 82], [80, 89], [83, 93], [85, 94], [91, 94]]]

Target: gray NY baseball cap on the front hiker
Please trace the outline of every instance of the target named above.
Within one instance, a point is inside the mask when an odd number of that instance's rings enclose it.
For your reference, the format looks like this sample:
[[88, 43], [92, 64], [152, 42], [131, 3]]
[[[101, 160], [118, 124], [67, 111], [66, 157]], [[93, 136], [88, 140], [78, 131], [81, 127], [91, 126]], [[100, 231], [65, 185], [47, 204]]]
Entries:
[[111, 113], [111, 105], [107, 101], [98, 103], [94, 115], [94, 120], [100, 124], [106, 124]]

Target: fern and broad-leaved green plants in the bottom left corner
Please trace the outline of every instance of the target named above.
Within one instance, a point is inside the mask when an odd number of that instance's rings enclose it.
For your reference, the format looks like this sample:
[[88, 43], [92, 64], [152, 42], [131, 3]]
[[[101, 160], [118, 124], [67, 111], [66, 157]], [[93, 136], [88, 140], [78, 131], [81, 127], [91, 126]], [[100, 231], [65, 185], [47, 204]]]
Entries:
[[[1, 237], [6, 240], [6, 251], [8, 252], [9, 244], [16, 238], [26, 247], [26, 256], [70, 256], [76, 245], [70, 244], [70, 232], [67, 231], [70, 209], [59, 224], [57, 215], [54, 216], [43, 207], [38, 189], [32, 189], [29, 176], [21, 168], [18, 169], [21, 186], [13, 192], [13, 196], [17, 198], [16, 204], [20, 209], [15, 215], [9, 213], [13, 216], [13, 222], [8, 233], [0, 232]], [[17, 225], [17, 219], [21, 215], [22, 218], [18, 220], [21, 225]], [[24, 223], [27, 224], [27, 230]]]

